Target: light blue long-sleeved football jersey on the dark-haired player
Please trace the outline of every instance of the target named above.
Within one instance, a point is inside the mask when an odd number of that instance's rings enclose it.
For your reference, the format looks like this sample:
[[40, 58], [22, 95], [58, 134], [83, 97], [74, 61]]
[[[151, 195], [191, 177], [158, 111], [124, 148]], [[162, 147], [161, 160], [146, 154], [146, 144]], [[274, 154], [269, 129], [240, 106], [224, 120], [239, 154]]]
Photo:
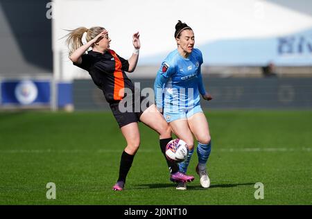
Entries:
[[200, 72], [202, 62], [199, 49], [193, 49], [188, 58], [177, 49], [169, 53], [154, 83], [157, 108], [187, 109], [200, 104], [200, 94], [206, 92]]

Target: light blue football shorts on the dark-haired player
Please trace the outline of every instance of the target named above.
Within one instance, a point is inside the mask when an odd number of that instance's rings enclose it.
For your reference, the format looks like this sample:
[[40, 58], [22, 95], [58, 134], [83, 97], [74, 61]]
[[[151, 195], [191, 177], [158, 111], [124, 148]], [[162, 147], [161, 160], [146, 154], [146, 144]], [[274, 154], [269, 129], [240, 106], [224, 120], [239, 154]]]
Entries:
[[167, 123], [171, 123], [172, 121], [178, 119], [189, 119], [189, 117], [198, 112], [202, 112], [202, 107], [200, 107], [200, 105], [184, 107], [175, 110], [164, 107], [164, 119], [167, 121]]

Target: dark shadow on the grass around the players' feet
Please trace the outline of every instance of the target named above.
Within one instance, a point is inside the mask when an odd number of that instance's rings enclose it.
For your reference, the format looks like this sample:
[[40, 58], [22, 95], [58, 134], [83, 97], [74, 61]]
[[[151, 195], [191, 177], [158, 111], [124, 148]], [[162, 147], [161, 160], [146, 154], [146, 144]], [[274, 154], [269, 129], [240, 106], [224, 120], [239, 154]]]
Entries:
[[[254, 182], [247, 182], [247, 183], [238, 183], [238, 184], [211, 184], [209, 189], [214, 188], [232, 188], [237, 186], [250, 186], [254, 185]], [[135, 189], [160, 189], [160, 188], [168, 188], [173, 187], [175, 188], [175, 183], [155, 183], [155, 184], [138, 184], [135, 186]], [[188, 190], [205, 190], [200, 186], [200, 184], [193, 184], [193, 182], [187, 184]]]

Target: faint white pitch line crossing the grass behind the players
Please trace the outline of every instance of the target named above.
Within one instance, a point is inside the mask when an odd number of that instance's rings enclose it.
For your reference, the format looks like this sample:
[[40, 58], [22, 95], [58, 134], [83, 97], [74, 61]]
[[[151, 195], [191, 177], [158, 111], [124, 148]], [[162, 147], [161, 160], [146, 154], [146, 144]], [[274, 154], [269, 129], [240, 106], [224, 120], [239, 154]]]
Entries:
[[[0, 149], [0, 154], [19, 154], [19, 153], [30, 153], [30, 154], [42, 154], [42, 153], [120, 153], [120, 150], [110, 150], [110, 149]], [[311, 152], [312, 148], [218, 148], [212, 149], [213, 152]], [[139, 152], [150, 153], [158, 152], [158, 148], [155, 150], [144, 150], [140, 149]]]

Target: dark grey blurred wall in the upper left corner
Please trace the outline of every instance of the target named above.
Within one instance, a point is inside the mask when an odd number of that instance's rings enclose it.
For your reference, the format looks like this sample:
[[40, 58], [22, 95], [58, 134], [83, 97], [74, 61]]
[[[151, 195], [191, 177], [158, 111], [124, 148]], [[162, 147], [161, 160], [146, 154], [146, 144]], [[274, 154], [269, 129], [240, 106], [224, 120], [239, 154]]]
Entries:
[[0, 1], [0, 76], [52, 73], [51, 19], [46, 0]]

